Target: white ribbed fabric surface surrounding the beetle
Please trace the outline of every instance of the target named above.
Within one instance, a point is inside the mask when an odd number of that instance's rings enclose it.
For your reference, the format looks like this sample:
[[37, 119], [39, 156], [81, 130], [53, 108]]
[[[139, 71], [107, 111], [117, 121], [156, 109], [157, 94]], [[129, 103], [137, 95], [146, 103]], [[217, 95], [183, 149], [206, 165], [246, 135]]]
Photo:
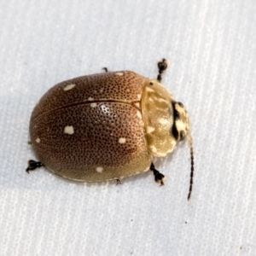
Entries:
[[[0, 3], [0, 255], [256, 255], [256, 3], [59, 1]], [[181, 143], [148, 172], [68, 182], [34, 158], [32, 108], [52, 85], [133, 70], [188, 108], [195, 148]]]

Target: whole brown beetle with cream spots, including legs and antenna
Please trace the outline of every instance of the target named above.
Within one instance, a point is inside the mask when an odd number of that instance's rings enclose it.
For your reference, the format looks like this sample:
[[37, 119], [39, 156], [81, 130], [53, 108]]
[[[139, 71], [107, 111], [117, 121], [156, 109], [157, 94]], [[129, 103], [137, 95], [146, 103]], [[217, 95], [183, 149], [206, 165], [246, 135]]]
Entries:
[[153, 156], [165, 157], [185, 137], [190, 147], [190, 198], [194, 156], [189, 117], [181, 102], [162, 84], [168, 67], [158, 62], [157, 79], [131, 71], [87, 75], [56, 84], [32, 111], [30, 137], [39, 161], [29, 160], [26, 172], [45, 166], [80, 182], [119, 180], [155, 169]]

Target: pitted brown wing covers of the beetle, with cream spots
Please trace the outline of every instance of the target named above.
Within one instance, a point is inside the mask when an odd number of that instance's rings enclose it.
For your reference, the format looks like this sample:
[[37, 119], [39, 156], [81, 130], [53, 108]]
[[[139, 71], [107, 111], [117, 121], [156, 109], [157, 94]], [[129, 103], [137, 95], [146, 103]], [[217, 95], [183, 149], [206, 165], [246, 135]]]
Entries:
[[[85, 182], [148, 171], [152, 160], [139, 106], [146, 81], [115, 72], [56, 84], [32, 112], [38, 160], [62, 177]], [[67, 127], [73, 130], [65, 132]]]

